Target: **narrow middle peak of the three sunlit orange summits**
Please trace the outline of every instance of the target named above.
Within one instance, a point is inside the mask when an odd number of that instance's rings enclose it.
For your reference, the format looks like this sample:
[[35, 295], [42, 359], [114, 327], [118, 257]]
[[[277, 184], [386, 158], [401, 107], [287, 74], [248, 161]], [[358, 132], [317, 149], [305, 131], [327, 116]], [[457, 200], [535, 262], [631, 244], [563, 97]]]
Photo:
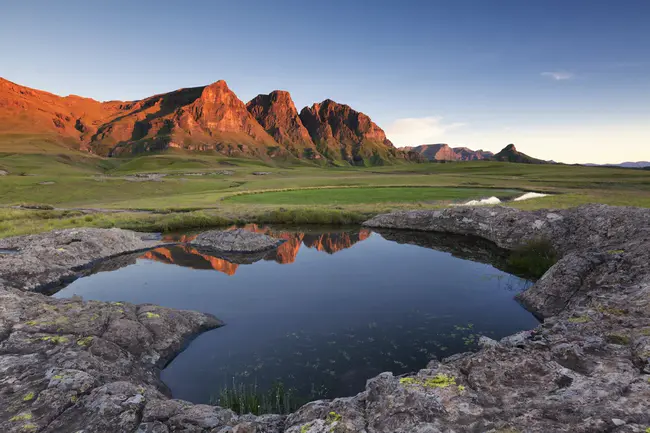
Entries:
[[257, 95], [246, 104], [246, 108], [266, 132], [293, 155], [308, 159], [322, 158], [309, 131], [302, 124], [289, 92], [276, 90], [268, 95]]

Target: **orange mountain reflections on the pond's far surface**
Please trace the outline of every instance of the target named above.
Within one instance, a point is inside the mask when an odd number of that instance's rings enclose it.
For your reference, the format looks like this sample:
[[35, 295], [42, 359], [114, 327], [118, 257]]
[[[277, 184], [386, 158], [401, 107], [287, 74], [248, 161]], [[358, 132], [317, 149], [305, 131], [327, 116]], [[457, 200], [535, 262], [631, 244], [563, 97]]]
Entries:
[[[327, 254], [334, 254], [367, 239], [371, 233], [368, 229], [327, 233], [293, 232], [274, 230], [270, 227], [258, 226], [257, 224], [248, 224], [243, 228], [251, 232], [263, 233], [275, 238], [284, 239], [286, 242], [276, 250], [270, 251], [262, 257], [262, 260], [272, 260], [282, 265], [294, 263], [298, 251], [302, 246], [313, 248]], [[162, 239], [163, 242], [180, 242], [181, 244], [156, 248], [155, 250], [147, 251], [139, 258], [192, 269], [214, 269], [226, 275], [235, 275], [239, 264], [215, 257], [209, 251], [203, 251], [190, 245], [189, 242], [194, 240], [196, 236], [166, 235]]]

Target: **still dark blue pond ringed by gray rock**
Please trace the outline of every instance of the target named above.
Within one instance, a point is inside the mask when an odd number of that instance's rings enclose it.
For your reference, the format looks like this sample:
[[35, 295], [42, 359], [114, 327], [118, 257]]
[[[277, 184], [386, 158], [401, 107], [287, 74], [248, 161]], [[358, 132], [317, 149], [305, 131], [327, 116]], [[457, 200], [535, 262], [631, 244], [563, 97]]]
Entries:
[[[190, 245], [100, 264], [54, 296], [154, 303], [211, 313], [226, 326], [193, 340], [162, 372], [175, 398], [208, 403], [233, 383], [280, 382], [304, 399], [354, 395], [384, 371], [475, 350], [538, 325], [514, 295], [493, 244], [450, 235], [366, 229], [296, 231], [238, 264]], [[192, 236], [167, 240], [187, 241]]]

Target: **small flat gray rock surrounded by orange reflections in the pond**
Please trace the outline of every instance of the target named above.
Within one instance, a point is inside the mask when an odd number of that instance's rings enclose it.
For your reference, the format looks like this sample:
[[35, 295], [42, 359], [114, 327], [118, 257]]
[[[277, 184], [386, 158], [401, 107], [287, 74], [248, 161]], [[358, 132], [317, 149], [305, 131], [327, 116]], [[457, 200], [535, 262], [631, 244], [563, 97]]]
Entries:
[[258, 253], [273, 250], [282, 240], [244, 229], [208, 231], [199, 234], [191, 243], [224, 253]]

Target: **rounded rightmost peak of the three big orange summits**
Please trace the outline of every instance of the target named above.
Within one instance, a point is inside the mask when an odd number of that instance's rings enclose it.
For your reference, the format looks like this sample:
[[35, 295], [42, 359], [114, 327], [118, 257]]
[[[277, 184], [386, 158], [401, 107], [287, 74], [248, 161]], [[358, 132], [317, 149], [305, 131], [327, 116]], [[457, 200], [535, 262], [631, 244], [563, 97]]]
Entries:
[[303, 108], [300, 120], [318, 152], [327, 159], [352, 165], [382, 165], [386, 160], [404, 157], [379, 126], [348, 105], [326, 99]]

